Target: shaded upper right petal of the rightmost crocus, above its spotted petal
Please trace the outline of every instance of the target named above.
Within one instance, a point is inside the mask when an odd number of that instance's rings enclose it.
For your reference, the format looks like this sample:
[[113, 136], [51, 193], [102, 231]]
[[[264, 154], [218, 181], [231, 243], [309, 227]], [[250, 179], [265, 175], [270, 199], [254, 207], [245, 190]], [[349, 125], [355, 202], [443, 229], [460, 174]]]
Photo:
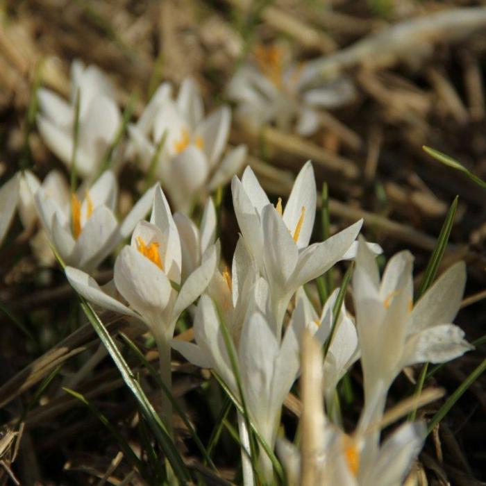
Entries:
[[458, 262], [444, 271], [444, 274], [415, 304], [410, 316], [410, 332], [435, 324], [452, 322], [458, 313], [465, 285], [464, 262]]

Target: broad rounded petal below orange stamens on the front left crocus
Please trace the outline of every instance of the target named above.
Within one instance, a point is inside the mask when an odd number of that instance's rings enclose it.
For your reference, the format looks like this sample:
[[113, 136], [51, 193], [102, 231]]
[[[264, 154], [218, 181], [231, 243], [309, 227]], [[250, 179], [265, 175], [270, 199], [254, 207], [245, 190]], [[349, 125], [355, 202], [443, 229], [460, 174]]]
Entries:
[[115, 262], [115, 284], [124, 299], [152, 329], [167, 326], [161, 321], [172, 292], [164, 272], [131, 246], [121, 250]]

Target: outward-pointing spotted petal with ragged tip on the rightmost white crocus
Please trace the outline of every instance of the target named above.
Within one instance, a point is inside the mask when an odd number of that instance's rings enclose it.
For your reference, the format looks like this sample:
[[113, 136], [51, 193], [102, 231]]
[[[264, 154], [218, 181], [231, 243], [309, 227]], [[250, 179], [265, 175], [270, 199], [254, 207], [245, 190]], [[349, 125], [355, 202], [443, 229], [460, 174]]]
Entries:
[[421, 330], [408, 339], [403, 366], [430, 361], [443, 363], [474, 349], [464, 340], [464, 331], [453, 324], [439, 324]]

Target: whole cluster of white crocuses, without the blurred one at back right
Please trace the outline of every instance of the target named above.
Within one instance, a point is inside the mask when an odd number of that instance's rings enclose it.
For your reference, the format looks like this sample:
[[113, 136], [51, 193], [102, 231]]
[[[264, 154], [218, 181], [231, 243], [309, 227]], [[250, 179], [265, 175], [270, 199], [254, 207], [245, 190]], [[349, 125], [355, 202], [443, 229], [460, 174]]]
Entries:
[[[172, 215], [156, 183], [119, 222], [115, 173], [105, 171], [96, 181], [90, 180], [119, 124], [112, 90], [92, 67], [75, 64], [73, 81], [71, 104], [51, 92], [40, 93], [39, 128], [51, 149], [69, 163], [73, 103], [79, 96], [77, 167], [79, 174], [87, 176], [85, 183], [70, 194], [57, 172], [42, 183], [29, 171], [17, 174], [0, 190], [0, 239], [17, 203], [26, 226], [32, 224], [36, 208], [76, 292], [153, 334], [167, 385], [171, 347], [196, 366], [214, 370], [238, 400], [244, 398], [251, 421], [271, 449], [276, 446], [283, 401], [299, 376], [303, 331], [310, 330], [324, 345], [335, 322], [322, 364], [325, 401], [330, 403], [337, 383], [360, 360], [364, 408], [353, 435], [346, 435], [330, 419], [324, 424], [319, 451], [326, 471], [324, 484], [401, 484], [421, 450], [424, 425], [406, 424], [383, 444], [379, 428], [375, 433], [367, 431], [380, 424], [389, 387], [405, 367], [445, 362], [471, 349], [462, 330], [452, 324], [464, 291], [464, 263], [453, 265], [414, 303], [412, 255], [408, 251], [394, 255], [380, 277], [376, 263], [380, 246], [356, 240], [362, 221], [324, 242], [310, 244], [317, 192], [307, 162], [285, 208], [281, 199], [275, 204], [269, 201], [251, 168], [246, 167], [241, 179], [233, 176], [233, 207], [241, 234], [231, 271], [221, 267], [212, 199], [206, 200], [199, 227], [185, 211], [195, 194], [214, 190], [238, 171], [245, 149], [238, 147], [222, 157], [230, 111], [224, 107], [204, 117], [201, 97], [190, 80], [183, 83], [175, 100], [171, 87], [162, 85], [137, 123], [128, 128], [128, 151], [137, 153], [146, 169], [166, 137], [157, 174], [181, 212]], [[150, 221], [146, 221], [150, 208]], [[117, 253], [112, 282], [100, 287], [92, 272], [130, 235], [129, 244]], [[344, 303], [334, 315], [339, 290], [317, 310], [303, 286], [346, 259], [355, 260], [354, 315]], [[177, 321], [187, 308], [194, 316], [194, 342], [173, 340]], [[241, 389], [231, 355], [237, 361]], [[170, 427], [170, 403], [164, 406]], [[296, 451], [285, 442], [279, 449], [287, 469], [298, 476]], [[262, 477], [271, 483], [272, 464], [262, 448], [258, 460]]]

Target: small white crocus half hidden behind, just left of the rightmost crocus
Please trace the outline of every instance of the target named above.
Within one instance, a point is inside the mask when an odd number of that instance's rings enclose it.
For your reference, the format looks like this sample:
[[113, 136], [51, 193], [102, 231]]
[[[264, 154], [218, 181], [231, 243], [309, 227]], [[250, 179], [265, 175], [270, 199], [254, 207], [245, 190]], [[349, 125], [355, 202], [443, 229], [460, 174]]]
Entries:
[[[314, 306], [310, 303], [303, 289], [297, 292], [297, 305], [292, 319], [304, 321], [305, 326], [321, 344], [324, 344], [330, 336], [334, 319], [333, 308], [339, 291], [340, 289], [337, 288], [330, 294], [320, 316], [317, 315]], [[358, 334], [353, 317], [349, 315], [343, 301], [322, 371], [324, 395], [328, 401], [333, 397], [337, 383], [358, 358]]]

